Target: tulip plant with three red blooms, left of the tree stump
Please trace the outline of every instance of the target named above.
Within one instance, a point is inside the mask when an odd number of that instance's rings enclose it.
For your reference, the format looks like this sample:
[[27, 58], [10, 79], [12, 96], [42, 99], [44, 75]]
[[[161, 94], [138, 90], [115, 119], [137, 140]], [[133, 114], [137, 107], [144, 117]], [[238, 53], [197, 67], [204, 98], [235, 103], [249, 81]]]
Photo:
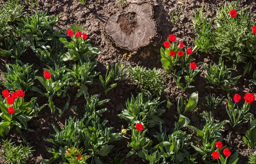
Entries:
[[76, 31], [76, 34], [72, 30], [67, 31], [67, 35], [71, 37], [71, 42], [66, 38], [60, 38], [59, 40], [68, 49], [68, 52], [63, 54], [61, 61], [69, 60], [82, 60], [83, 57], [89, 57], [90, 60], [94, 59], [96, 54], [100, 53], [100, 50], [96, 47], [92, 47], [88, 42], [86, 34], [82, 34], [80, 31]]

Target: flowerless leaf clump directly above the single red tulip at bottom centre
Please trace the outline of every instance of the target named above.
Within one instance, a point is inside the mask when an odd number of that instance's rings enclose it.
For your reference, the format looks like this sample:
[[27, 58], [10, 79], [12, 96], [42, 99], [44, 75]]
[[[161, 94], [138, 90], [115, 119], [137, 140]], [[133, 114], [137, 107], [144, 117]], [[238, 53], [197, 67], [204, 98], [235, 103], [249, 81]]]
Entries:
[[159, 101], [160, 97], [153, 99], [150, 93], [139, 93], [136, 98], [131, 97], [127, 100], [126, 109], [122, 109], [122, 113], [118, 116], [125, 119], [129, 125], [134, 122], [140, 122], [145, 127], [155, 127], [163, 123], [159, 118], [166, 110], [158, 108], [163, 102]]

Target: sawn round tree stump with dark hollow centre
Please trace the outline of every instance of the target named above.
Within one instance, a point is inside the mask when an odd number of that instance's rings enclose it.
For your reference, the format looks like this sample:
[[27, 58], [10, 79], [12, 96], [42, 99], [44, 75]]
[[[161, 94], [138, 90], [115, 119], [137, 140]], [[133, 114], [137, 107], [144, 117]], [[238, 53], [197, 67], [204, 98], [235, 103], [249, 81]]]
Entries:
[[147, 3], [129, 4], [109, 17], [105, 32], [117, 46], [128, 51], [148, 45], [149, 40], [156, 35], [152, 7]]

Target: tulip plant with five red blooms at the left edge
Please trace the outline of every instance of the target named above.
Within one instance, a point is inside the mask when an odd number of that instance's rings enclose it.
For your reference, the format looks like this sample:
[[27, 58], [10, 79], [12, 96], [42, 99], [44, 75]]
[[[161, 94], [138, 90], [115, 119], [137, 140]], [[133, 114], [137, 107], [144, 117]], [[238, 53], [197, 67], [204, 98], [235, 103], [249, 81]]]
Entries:
[[[0, 96], [0, 136], [5, 137], [10, 129], [15, 127], [16, 131], [20, 134], [22, 139], [26, 142], [25, 137], [21, 133], [21, 129], [29, 130], [27, 128], [27, 122], [32, 119], [33, 115], [39, 112], [41, 108], [35, 108], [36, 97], [32, 97], [30, 102], [24, 102], [23, 90], [17, 90], [17, 92], [9, 93], [9, 90], [3, 90], [2, 96]], [[44, 105], [45, 106], [45, 105]], [[39, 110], [35, 110], [39, 109]]]

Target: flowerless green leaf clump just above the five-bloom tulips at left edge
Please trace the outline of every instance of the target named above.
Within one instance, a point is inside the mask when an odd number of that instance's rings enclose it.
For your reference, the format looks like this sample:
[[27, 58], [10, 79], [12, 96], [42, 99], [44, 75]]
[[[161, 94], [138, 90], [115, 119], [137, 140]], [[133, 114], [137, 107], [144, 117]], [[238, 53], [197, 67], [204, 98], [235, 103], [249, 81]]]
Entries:
[[16, 64], [6, 64], [7, 73], [2, 73], [6, 82], [3, 85], [9, 90], [22, 89], [24, 91], [34, 88], [35, 74], [38, 70], [32, 69], [33, 65], [23, 64], [16, 60]]

